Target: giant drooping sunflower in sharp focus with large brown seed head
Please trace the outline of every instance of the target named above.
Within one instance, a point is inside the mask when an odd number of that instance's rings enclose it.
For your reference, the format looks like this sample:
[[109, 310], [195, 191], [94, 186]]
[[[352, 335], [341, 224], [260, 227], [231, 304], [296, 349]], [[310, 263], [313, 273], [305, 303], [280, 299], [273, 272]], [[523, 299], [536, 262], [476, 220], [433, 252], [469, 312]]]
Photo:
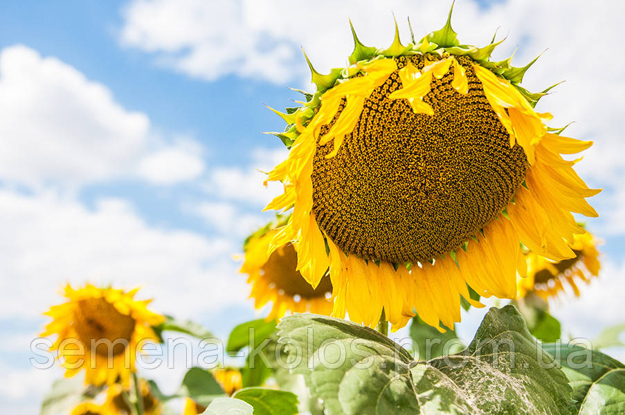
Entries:
[[[350, 66], [321, 75], [302, 107], [278, 113], [287, 158], [269, 172], [284, 192], [266, 209], [293, 208], [269, 252], [296, 243], [296, 269], [313, 287], [329, 270], [333, 314], [393, 329], [418, 313], [453, 327], [460, 297], [516, 296], [522, 245], [553, 261], [575, 256], [572, 212], [597, 216], [574, 154], [592, 142], [559, 135], [534, 111], [542, 93], [523, 68], [491, 62], [498, 43], [461, 45], [446, 25], [384, 50], [354, 35]], [[536, 59], [534, 59], [536, 60]]]

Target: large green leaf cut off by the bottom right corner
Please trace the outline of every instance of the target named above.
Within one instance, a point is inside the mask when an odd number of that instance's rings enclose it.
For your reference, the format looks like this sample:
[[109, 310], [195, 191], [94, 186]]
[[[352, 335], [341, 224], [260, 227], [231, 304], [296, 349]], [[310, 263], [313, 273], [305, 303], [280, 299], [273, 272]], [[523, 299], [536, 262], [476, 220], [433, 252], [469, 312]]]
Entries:
[[543, 345], [562, 366], [573, 387], [579, 414], [625, 414], [625, 365], [576, 345]]

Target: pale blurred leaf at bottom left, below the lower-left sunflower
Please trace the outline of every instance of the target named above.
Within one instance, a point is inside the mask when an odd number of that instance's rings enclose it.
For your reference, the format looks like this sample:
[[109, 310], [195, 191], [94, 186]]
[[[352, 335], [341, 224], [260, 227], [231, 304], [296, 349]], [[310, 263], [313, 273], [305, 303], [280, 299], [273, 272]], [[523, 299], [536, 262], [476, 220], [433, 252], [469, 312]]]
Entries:
[[84, 378], [62, 378], [55, 380], [42, 401], [41, 415], [69, 414], [82, 400], [95, 397], [103, 387], [84, 385]]

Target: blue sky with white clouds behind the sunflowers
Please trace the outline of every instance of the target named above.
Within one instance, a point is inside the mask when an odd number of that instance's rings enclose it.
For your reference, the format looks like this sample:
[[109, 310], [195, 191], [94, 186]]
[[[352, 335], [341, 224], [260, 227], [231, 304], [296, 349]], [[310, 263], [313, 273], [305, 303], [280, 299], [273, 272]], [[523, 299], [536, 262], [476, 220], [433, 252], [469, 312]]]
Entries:
[[[152, 308], [193, 318], [225, 338], [259, 314], [233, 255], [271, 218], [277, 192], [262, 172], [284, 157], [283, 123], [266, 109], [310, 89], [301, 48], [318, 71], [343, 66], [360, 39], [386, 47], [393, 14], [422, 37], [449, 4], [395, 1], [5, 1], [0, 12], [0, 371], [6, 412], [35, 414], [58, 368], [30, 367], [30, 341], [71, 282], [141, 286]], [[494, 59], [542, 53], [524, 86], [561, 80], [538, 111], [593, 140], [577, 171], [601, 194], [588, 228], [604, 241], [601, 276], [579, 299], [552, 304], [568, 333], [622, 322], [625, 55], [618, 1], [455, 3], [460, 40], [507, 37]], [[260, 314], [262, 315], [262, 313]], [[470, 340], [481, 318], [459, 332]], [[181, 371], [154, 377], [173, 387]]]

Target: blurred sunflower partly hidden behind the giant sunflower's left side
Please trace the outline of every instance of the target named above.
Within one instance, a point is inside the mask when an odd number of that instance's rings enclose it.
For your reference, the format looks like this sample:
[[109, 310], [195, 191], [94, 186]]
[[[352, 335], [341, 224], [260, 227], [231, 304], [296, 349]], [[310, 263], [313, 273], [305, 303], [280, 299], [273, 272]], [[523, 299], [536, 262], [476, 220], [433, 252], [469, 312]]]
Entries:
[[296, 266], [296, 246], [290, 241], [268, 253], [276, 227], [284, 225], [287, 219], [278, 218], [252, 234], [244, 244], [245, 261], [241, 272], [247, 274], [252, 285], [250, 297], [255, 299], [256, 308], [272, 303], [268, 318], [282, 317], [287, 311], [329, 315], [332, 313], [332, 283], [329, 276], [322, 277], [313, 289], [302, 277]]

